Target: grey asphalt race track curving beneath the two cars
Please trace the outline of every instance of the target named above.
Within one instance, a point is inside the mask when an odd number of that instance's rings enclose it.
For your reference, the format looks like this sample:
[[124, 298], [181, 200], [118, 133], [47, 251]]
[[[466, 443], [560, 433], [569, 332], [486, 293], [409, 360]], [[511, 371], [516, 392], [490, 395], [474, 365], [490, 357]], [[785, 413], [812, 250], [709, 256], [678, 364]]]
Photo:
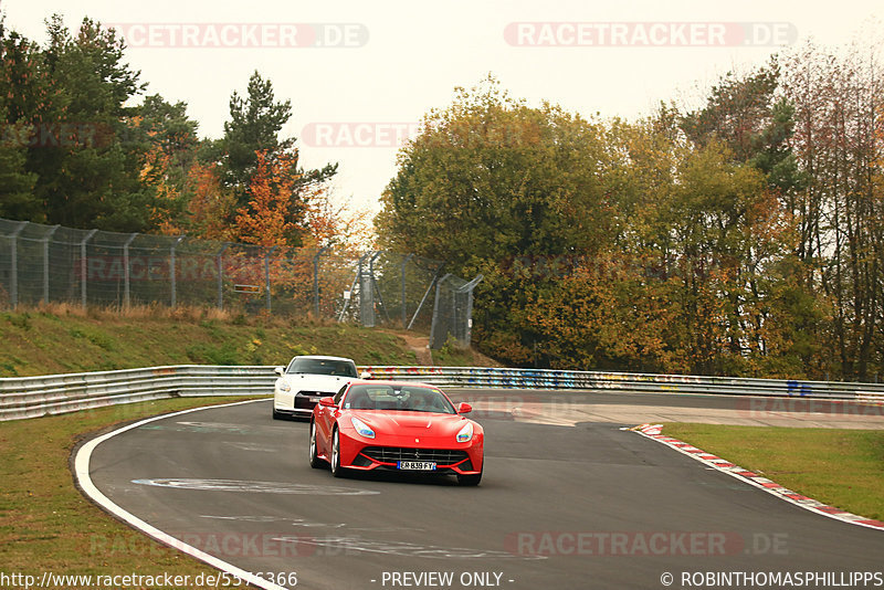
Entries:
[[672, 588], [723, 586], [697, 572], [814, 572], [821, 583], [803, 587], [827, 588], [843, 587], [842, 572], [884, 570], [880, 530], [812, 514], [620, 430], [634, 423], [544, 420], [545, 402], [573, 417], [589, 401], [634, 410], [733, 400], [529, 396], [514, 412], [512, 391], [452, 391], [485, 426], [485, 475], [473, 488], [312, 470], [307, 423], [272, 420], [270, 400], [131, 429], [94, 450], [90, 473], [125, 510], [290, 588], [295, 578], [312, 589], [665, 588], [666, 572]]

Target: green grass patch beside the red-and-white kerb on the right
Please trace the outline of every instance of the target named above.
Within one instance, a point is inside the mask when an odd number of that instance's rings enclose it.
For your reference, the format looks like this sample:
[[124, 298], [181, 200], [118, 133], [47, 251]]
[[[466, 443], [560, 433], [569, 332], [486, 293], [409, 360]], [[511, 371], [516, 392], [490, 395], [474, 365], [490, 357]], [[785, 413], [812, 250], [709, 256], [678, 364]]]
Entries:
[[799, 494], [884, 520], [884, 431], [680, 423], [663, 432]]

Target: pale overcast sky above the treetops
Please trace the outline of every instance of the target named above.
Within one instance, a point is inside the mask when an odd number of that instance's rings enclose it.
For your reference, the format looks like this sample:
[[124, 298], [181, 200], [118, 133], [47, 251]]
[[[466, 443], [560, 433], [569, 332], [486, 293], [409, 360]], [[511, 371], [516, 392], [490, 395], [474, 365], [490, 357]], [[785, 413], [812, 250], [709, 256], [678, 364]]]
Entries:
[[0, 0], [0, 10], [41, 43], [55, 12], [71, 29], [84, 15], [118, 25], [147, 93], [186, 102], [202, 137], [221, 136], [231, 93], [257, 70], [292, 101], [283, 133], [299, 138], [305, 166], [340, 162], [335, 194], [371, 209], [398, 139], [490, 72], [530, 105], [636, 118], [661, 99], [696, 101], [781, 46], [845, 44], [884, 15], [863, 0]]

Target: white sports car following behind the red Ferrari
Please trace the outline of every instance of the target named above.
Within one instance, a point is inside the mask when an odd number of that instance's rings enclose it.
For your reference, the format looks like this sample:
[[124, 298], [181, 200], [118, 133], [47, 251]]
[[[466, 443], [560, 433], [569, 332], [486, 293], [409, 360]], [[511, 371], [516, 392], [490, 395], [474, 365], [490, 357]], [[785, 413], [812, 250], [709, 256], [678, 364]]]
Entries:
[[[340, 388], [359, 379], [356, 362], [349, 358], [301, 356], [288, 367], [276, 367], [273, 388], [273, 418], [309, 418], [319, 398], [334, 396]], [[368, 373], [362, 375], [362, 378]]]

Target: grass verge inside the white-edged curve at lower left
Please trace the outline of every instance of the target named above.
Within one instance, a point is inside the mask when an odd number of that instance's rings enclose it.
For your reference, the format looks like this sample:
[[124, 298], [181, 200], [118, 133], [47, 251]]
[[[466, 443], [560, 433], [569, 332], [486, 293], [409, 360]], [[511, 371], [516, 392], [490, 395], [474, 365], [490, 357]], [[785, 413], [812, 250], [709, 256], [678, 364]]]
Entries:
[[[236, 398], [241, 400], [245, 398]], [[0, 422], [0, 563], [7, 575], [156, 576], [214, 572], [105, 515], [73, 484], [71, 451], [85, 433], [231, 398], [182, 398]]]

